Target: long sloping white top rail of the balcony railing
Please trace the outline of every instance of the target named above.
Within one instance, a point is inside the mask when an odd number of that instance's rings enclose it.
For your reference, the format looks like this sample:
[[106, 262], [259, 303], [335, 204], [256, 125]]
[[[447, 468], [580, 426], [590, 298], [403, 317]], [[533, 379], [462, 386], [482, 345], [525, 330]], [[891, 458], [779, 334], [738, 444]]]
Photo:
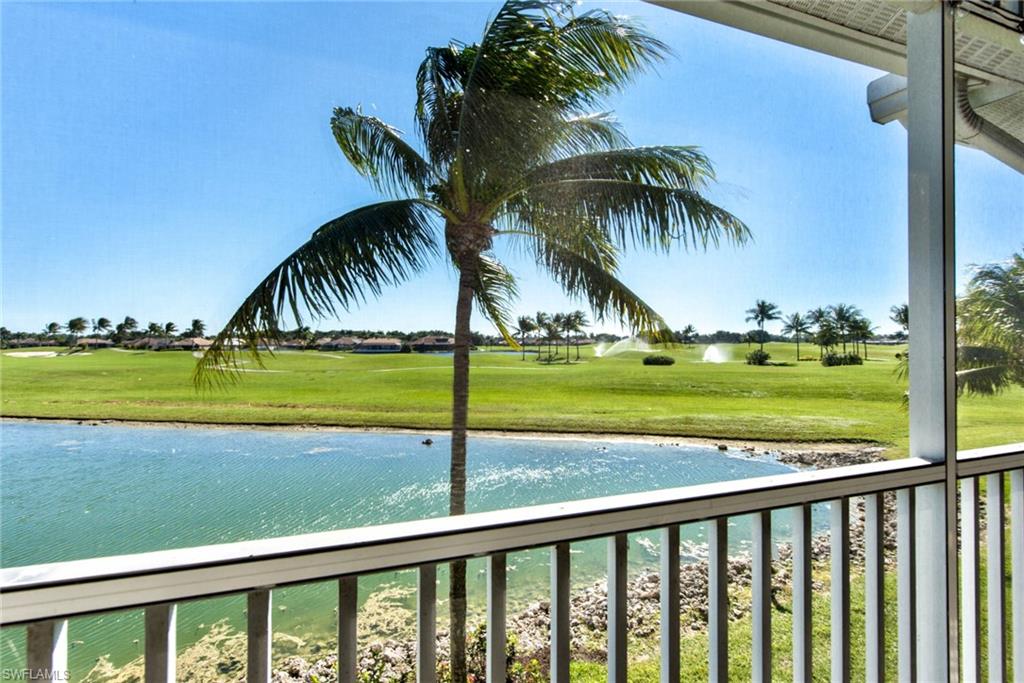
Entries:
[[[1008, 456], [1014, 460], [1008, 462]], [[1024, 444], [969, 452], [958, 460], [984, 471], [1020, 467]], [[0, 626], [447, 562], [942, 479], [941, 464], [894, 460], [460, 517], [8, 567], [0, 569]]]

